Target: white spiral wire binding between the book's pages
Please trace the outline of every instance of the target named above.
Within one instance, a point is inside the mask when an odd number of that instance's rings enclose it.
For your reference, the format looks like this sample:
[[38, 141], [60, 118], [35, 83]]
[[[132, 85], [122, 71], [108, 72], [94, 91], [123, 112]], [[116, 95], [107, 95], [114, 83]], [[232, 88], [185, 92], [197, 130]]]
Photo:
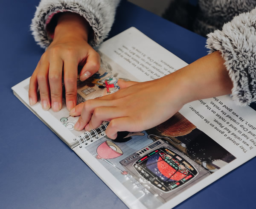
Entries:
[[[79, 135], [78, 137], [76, 137], [76, 139], [79, 141], [79, 148], [83, 147], [84, 145], [88, 144], [88, 140], [90, 140], [90, 142], [93, 142], [93, 139], [99, 139], [99, 134], [101, 136], [105, 135], [105, 130], [108, 127], [108, 123], [109, 122], [103, 122], [99, 127], [97, 127], [96, 129], [92, 129], [90, 132], [86, 131], [84, 132], [84, 134]], [[74, 140], [76, 140], [74, 139]]]

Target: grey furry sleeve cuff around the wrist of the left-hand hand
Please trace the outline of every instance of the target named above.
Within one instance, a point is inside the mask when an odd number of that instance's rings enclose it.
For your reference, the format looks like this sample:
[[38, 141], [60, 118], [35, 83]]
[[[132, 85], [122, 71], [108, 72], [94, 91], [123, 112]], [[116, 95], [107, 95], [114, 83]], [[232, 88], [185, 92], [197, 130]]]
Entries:
[[35, 41], [43, 48], [52, 38], [47, 34], [46, 23], [57, 12], [71, 11], [84, 17], [94, 31], [90, 44], [99, 45], [107, 37], [114, 21], [120, 0], [41, 0], [30, 25]]

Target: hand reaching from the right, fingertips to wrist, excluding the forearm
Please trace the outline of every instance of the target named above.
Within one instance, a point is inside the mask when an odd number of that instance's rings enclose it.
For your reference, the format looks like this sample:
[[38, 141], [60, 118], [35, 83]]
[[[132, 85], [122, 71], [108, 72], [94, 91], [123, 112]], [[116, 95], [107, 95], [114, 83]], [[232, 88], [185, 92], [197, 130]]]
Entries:
[[118, 131], [137, 132], [154, 127], [183, 106], [177, 81], [169, 82], [167, 76], [141, 83], [119, 80], [118, 85], [120, 90], [116, 93], [87, 100], [70, 111], [71, 116], [81, 115], [76, 130], [90, 131], [103, 121], [110, 121], [106, 135], [115, 139]]

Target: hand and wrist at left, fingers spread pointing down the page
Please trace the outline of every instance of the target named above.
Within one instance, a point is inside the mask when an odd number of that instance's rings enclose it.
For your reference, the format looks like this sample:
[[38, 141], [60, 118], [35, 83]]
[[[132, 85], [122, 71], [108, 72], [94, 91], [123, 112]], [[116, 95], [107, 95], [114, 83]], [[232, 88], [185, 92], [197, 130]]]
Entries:
[[29, 83], [29, 102], [37, 102], [39, 87], [44, 110], [59, 111], [62, 105], [62, 76], [66, 90], [67, 109], [76, 105], [78, 65], [84, 65], [80, 80], [96, 73], [100, 66], [99, 54], [88, 44], [90, 25], [78, 14], [61, 14], [54, 39], [41, 56]]

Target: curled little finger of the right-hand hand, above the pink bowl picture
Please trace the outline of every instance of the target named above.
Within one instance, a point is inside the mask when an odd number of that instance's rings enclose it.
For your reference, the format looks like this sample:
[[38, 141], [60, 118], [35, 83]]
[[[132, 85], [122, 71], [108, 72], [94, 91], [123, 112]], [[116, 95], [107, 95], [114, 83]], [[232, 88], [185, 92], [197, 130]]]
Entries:
[[112, 119], [108, 124], [107, 129], [105, 130], [106, 135], [111, 138], [115, 139], [117, 137], [118, 131], [140, 131], [137, 130], [134, 121], [131, 120], [130, 117], [121, 117]]

